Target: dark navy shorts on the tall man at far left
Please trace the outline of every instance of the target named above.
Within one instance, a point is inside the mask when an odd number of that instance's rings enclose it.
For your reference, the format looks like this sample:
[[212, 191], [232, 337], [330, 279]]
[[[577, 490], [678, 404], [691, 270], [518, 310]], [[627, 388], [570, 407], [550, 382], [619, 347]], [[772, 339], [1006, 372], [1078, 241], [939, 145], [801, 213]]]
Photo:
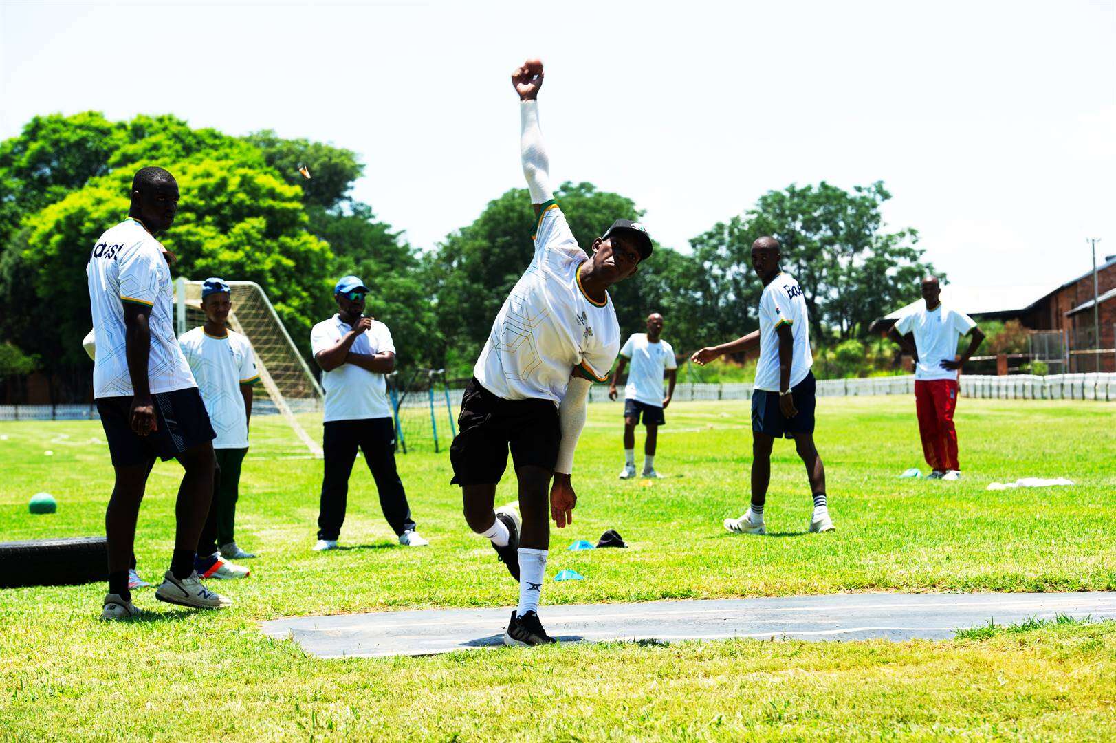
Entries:
[[129, 467], [155, 457], [173, 459], [186, 449], [217, 438], [196, 387], [156, 392], [151, 398], [158, 429], [147, 436], [138, 436], [132, 430], [132, 396], [97, 399], [97, 412], [114, 467]]

